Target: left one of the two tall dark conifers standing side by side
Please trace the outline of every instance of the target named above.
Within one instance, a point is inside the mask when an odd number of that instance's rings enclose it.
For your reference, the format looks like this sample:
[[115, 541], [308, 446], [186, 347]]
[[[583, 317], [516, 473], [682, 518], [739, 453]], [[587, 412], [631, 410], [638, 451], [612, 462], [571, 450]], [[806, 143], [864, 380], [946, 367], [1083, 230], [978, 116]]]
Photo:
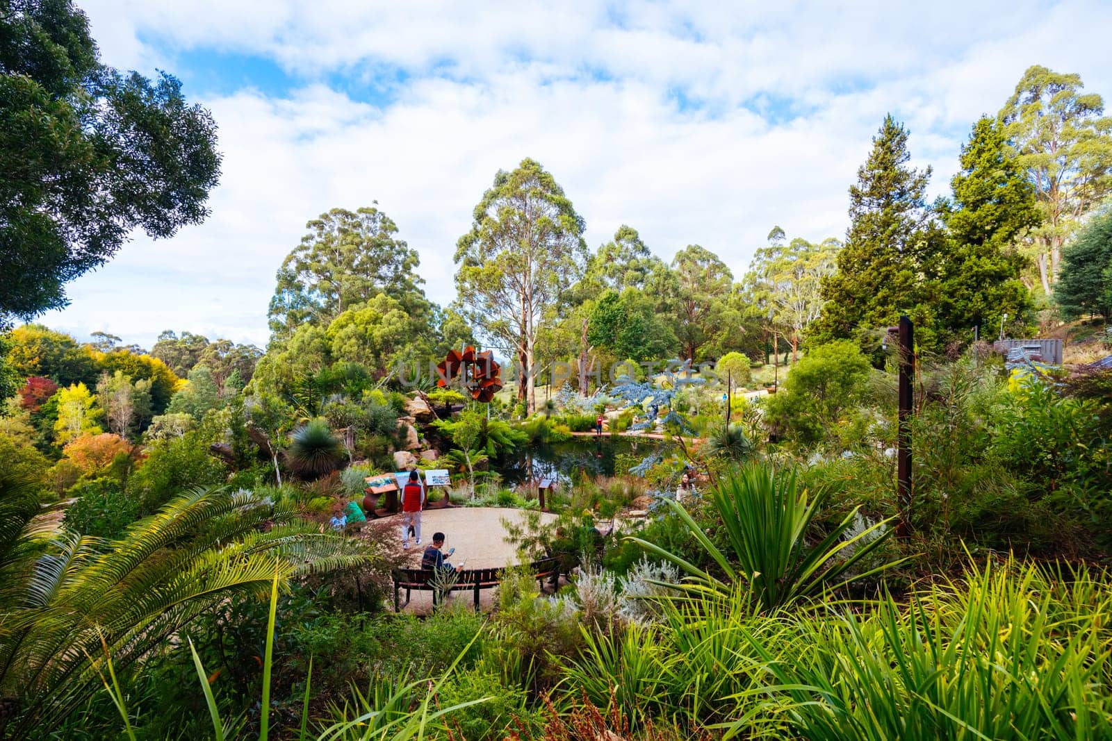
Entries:
[[[926, 319], [919, 301], [919, 263], [937, 229], [925, 202], [931, 168], [907, 167], [907, 130], [891, 114], [873, 137], [873, 151], [850, 188], [851, 226], [837, 271], [823, 281], [825, 306], [808, 330], [808, 344], [891, 327], [901, 313]], [[920, 341], [927, 338], [921, 333]]]

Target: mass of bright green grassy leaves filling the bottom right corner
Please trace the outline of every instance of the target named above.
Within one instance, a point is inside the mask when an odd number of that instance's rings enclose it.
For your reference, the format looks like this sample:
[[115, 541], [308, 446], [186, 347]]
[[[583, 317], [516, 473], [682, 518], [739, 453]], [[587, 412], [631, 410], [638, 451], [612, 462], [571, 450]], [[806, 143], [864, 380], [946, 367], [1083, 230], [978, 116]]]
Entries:
[[792, 643], [747, 635], [768, 670], [766, 709], [788, 735], [823, 741], [1112, 739], [1108, 577], [1009, 561], [907, 604], [795, 620]]

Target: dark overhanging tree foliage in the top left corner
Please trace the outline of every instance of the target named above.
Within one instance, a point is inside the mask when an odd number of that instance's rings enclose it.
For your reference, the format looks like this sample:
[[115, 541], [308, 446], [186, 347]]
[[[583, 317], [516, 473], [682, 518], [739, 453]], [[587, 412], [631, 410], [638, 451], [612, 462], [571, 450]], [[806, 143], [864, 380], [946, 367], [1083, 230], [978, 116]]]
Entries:
[[0, 0], [0, 172], [3, 321], [64, 306], [63, 284], [132, 229], [166, 238], [203, 220], [216, 124], [175, 78], [101, 64], [68, 0]]

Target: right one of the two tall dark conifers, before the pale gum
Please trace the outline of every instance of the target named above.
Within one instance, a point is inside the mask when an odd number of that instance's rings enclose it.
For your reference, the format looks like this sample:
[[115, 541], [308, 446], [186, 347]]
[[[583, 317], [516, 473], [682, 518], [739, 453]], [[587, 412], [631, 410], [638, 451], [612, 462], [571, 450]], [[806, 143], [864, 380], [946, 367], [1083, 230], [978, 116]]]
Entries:
[[972, 338], [973, 327], [996, 327], [1005, 313], [1013, 322], [1030, 314], [1020, 281], [1026, 260], [1015, 242], [1041, 220], [1034, 189], [991, 118], [973, 126], [961, 166], [951, 180], [953, 198], [940, 204], [947, 249], [932, 271], [939, 328], [951, 339]]

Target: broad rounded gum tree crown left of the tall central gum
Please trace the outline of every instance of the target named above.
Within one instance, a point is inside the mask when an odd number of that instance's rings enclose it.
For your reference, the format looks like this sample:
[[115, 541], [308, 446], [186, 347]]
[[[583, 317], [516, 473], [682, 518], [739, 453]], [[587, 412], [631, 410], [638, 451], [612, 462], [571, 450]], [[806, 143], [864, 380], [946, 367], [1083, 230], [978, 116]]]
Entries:
[[419, 288], [424, 281], [415, 272], [417, 251], [395, 236], [397, 226], [375, 206], [332, 209], [306, 224], [309, 232], [278, 270], [269, 311], [276, 338], [290, 337], [306, 322], [327, 326], [379, 293], [410, 314], [429, 314]]

